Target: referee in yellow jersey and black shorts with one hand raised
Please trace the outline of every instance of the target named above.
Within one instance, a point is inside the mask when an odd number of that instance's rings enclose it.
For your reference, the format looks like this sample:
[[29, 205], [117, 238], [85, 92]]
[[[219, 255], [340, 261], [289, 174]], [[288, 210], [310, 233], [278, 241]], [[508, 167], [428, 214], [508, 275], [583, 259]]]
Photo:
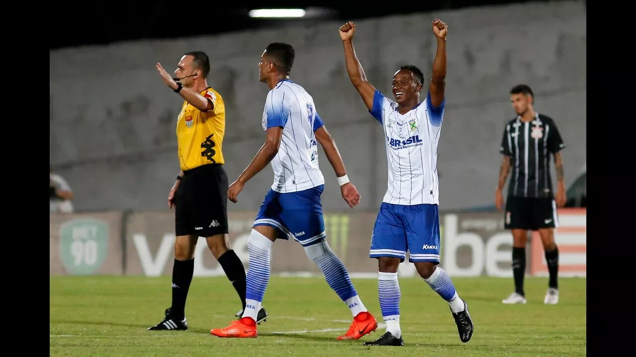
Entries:
[[[148, 330], [187, 330], [186, 298], [194, 271], [198, 237], [205, 237], [214, 258], [239, 293], [245, 309], [245, 268], [228, 241], [228, 177], [223, 170], [225, 105], [223, 98], [207, 84], [210, 61], [201, 51], [181, 57], [175, 78], [162, 65], [156, 69], [163, 82], [184, 102], [177, 119], [177, 147], [181, 172], [168, 196], [175, 208], [172, 306], [165, 318]], [[242, 313], [242, 311], [240, 311]], [[261, 321], [265, 310], [259, 311]], [[258, 321], [260, 322], [260, 321]]]

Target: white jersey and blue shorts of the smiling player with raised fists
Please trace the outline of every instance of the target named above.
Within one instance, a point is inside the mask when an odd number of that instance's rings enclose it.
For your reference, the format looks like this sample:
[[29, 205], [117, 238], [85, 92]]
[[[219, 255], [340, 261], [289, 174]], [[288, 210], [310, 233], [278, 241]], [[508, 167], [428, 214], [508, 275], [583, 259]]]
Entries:
[[446, 100], [434, 107], [431, 94], [400, 114], [380, 91], [371, 115], [384, 128], [389, 180], [371, 234], [370, 257], [439, 262], [437, 148]]

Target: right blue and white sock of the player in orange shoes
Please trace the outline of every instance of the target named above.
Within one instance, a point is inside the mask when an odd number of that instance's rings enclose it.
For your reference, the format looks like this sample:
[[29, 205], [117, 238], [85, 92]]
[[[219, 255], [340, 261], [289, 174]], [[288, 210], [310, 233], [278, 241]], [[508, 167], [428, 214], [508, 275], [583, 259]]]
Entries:
[[354, 285], [349, 279], [347, 268], [342, 261], [331, 250], [326, 240], [314, 245], [305, 246], [305, 253], [322, 271], [324, 278], [331, 288], [338, 294], [349, 309], [351, 314], [356, 317], [357, 314], [367, 311], [366, 307], [358, 297]]

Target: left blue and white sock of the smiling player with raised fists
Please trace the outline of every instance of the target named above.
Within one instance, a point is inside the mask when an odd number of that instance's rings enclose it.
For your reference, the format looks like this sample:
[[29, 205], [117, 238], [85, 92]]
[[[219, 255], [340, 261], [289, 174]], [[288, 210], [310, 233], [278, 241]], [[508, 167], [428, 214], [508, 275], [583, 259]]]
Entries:
[[387, 325], [387, 332], [396, 339], [402, 337], [402, 331], [399, 328], [399, 300], [401, 293], [399, 291], [399, 282], [397, 281], [397, 273], [378, 273], [378, 299], [380, 300], [380, 310], [382, 310], [382, 318]]

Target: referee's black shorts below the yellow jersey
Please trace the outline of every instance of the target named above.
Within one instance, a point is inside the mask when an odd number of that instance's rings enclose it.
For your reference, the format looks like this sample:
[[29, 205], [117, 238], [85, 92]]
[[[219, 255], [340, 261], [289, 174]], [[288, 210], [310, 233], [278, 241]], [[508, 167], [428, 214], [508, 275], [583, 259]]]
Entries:
[[200, 237], [228, 232], [228, 175], [207, 164], [184, 172], [174, 203], [175, 234]]

